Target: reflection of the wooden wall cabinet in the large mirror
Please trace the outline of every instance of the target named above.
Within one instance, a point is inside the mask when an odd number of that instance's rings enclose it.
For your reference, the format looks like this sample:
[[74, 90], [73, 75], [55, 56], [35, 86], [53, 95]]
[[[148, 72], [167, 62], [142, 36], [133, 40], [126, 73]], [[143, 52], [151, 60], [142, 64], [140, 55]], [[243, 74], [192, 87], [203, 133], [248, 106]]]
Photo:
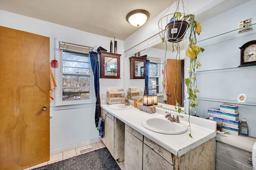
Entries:
[[146, 58], [130, 57], [130, 79], [143, 79], [146, 77]]

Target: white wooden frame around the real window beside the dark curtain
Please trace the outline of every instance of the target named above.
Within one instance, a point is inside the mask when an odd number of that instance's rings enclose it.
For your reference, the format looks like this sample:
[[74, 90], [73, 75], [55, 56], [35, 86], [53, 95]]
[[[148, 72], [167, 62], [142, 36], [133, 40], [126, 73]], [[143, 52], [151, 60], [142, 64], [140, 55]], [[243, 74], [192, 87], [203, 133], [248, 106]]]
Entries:
[[[59, 43], [68, 43], [72, 45], [78, 45], [78, 46], [84, 46], [84, 47], [89, 47], [92, 48], [92, 51], [94, 51], [94, 47], [92, 45], [88, 44], [83, 44], [83, 43], [78, 43], [74, 41], [68, 41], [64, 39], [55, 39], [55, 59], [58, 59], [59, 61], [59, 66], [58, 68], [55, 68], [55, 79], [57, 83], [57, 87], [55, 88], [55, 95], [54, 95], [54, 100], [55, 100], [55, 106], [66, 106], [66, 105], [76, 105], [76, 104], [90, 104], [90, 103], [95, 103], [96, 102], [96, 96], [95, 96], [95, 90], [94, 90], [94, 75], [92, 72], [92, 66], [90, 63], [90, 73], [65, 73], [64, 75], [84, 75], [84, 76], [90, 76], [90, 84], [88, 88], [90, 88], [90, 93], [89, 93], [89, 99], [84, 99], [84, 100], [62, 100], [62, 88], [63, 88], [63, 72], [62, 72], [62, 56], [60, 56], [61, 50], [60, 50], [60, 45]], [[75, 51], [74, 51], [75, 52]], [[90, 61], [90, 55], [89, 55], [89, 62]]]

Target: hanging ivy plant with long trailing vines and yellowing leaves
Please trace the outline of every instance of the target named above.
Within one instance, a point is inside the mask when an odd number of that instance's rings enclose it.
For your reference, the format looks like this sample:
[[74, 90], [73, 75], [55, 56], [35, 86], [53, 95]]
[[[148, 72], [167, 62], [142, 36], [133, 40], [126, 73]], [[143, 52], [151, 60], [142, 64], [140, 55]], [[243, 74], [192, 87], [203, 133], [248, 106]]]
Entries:
[[[172, 19], [172, 22], [175, 22], [178, 24], [180, 24], [180, 22], [178, 21], [184, 21], [187, 24], [187, 29], [189, 30], [189, 33], [187, 37], [189, 37], [189, 45], [186, 49], [186, 56], [189, 57], [190, 59], [190, 66], [188, 66], [188, 78], [185, 79], [185, 84], [187, 87], [187, 94], [188, 94], [188, 102], [189, 102], [189, 108], [188, 108], [188, 114], [189, 114], [189, 118], [190, 118], [190, 111], [191, 109], [195, 109], [196, 106], [198, 106], [198, 102], [197, 102], [197, 96], [196, 93], [199, 93], [200, 91], [197, 89], [197, 80], [196, 80], [196, 71], [198, 69], [199, 66], [202, 66], [202, 64], [198, 61], [197, 57], [198, 54], [201, 52], [204, 52], [204, 49], [202, 47], [198, 47], [197, 46], [197, 39], [196, 36], [200, 35], [201, 31], [202, 31], [202, 25], [199, 24], [196, 20], [195, 20], [195, 16], [193, 14], [184, 14], [184, 13], [180, 13], [180, 12], [174, 12]], [[159, 25], [159, 22], [158, 22]], [[167, 26], [166, 26], [167, 27]], [[174, 26], [172, 26], [171, 28], [174, 28]], [[180, 27], [180, 30], [182, 28]], [[186, 29], [186, 30], [187, 30]], [[185, 30], [185, 32], [186, 32]], [[173, 35], [168, 35], [168, 31], [166, 31], [166, 28], [163, 29], [163, 31], [161, 32], [162, 36], [160, 34], [160, 36], [162, 37], [162, 41], [166, 42], [167, 40], [172, 43], [172, 46], [176, 46], [177, 47], [177, 55], [176, 55], [176, 60], [178, 60], [178, 56], [180, 55], [180, 48], [179, 48], [179, 42], [182, 41], [183, 37], [181, 38], [173, 38]], [[167, 33], [167, 35], [166, 35]], [[180, 31], [178, 29], [178, 33], [179, 34]], [[166, 38], [167, 37], [167, 38]], [[174, 45], [176, 44], [176, 45]], [[178, 58], [178, 59], [177, 59]], [[176, 65], [177, 67], [177, 65]], [[176, 81], [178, 77], [176, 77]], [[178, 81], [177, 81], [178, 82]], [[164, 83], [163, 83], [164, 84]], [[177, 90], [174, 89], [174, 94], [178, 94]], [[178, 113], [182, 112], [182, 109], [180, 107], [180, 104], [177, 101], [178, 99], [178, 95], [175, 95], [175, 100], [176, 100], [176, 106], [175, 109], [178, 111]], [[190, 121], [189, 121], [189, 126], [190, 126]], [[192, 137], [191, 135], [191, 129], [190, 129], [190, 137]]]

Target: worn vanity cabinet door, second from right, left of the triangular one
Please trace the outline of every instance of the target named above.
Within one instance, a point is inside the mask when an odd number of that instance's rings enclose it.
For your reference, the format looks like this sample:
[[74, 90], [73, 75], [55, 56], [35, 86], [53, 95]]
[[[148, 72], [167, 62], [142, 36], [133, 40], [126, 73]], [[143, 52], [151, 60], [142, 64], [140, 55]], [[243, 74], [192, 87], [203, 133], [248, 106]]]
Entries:
[[143, 142], [125, 130], [124, 169], [142, 170]]

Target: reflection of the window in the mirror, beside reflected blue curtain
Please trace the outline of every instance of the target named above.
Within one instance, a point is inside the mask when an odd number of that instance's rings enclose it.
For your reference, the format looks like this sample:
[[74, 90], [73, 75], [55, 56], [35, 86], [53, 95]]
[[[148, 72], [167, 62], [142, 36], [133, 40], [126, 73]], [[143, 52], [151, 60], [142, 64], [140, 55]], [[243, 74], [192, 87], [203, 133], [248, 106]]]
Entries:
[[159, 94], [160, 92], [160, 63], [161, 59], [148, 58], [149, 74], [148, 74], [148, 91], [149, 94]]

